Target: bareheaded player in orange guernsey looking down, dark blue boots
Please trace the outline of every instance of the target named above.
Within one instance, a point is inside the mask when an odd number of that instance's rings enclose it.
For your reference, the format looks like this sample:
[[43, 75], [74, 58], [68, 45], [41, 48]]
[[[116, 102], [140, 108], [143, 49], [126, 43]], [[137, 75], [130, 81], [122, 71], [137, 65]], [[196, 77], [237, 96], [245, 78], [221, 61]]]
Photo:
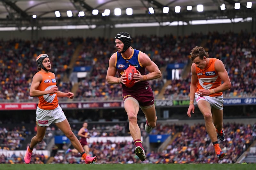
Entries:
[[228, 72], [222, 61], [216, 58], [208, 58], [209, 54], [205, 52], [203, 47], [193, 48], [190, 54], [193, 63], [191, 66], [190, 102], [187, 114], [190, 117], [191, 111], [194, 113], [194, 100], [196, 99], [197, 106], [204, 115], [205, 127], [217, 157], [223, 159], [226, 153], [221, 151], [218, 138], [224, 140], [225, 136], [222, 129], [222, 92], [231, 87]]

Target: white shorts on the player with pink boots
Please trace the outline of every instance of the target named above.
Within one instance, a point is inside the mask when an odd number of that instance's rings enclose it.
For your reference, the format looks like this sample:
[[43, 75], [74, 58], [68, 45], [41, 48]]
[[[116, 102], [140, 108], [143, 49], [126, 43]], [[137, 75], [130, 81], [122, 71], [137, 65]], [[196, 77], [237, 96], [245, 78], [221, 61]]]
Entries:
[[39, 107], [36, 108], [36, 124], [38, 126], [49, 126], [52, 123], [59, 123], [66, 119], [66, 116], [60, 107], [52, 110], [44, 110]]

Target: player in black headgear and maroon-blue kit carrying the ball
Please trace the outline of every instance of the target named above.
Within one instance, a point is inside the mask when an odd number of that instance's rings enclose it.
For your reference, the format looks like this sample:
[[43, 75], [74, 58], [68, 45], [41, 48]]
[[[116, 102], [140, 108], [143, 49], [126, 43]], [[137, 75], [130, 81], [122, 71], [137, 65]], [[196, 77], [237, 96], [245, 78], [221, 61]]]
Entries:
[[[106, 79], [109, 84], [122, 84], [124, 109], [128, 115], [129, 130], [136, 146], [135, 154], [141, 161], [144, 161], [146, 156], [142, 147], [137, 115], [141, 108], [146, 116], [145, 130], [147, 132], [156, 126], [154, 96], [148, 80], [160, 78], [162, 73], [147, 54], [131, 47], [132, 38], [129, 33], [118, 33], [115, 39], [117, 52], [109, 59]], [[133, 74], [135, 85], [128, 88], [125, 86], [125, 70], [130, 65], [137, 69], [137, 73]], [[148, 70], [148, 74], [146, 74], [146, 70]], [[116, 72], [118, 72], [119, 78], [116, 77]]]

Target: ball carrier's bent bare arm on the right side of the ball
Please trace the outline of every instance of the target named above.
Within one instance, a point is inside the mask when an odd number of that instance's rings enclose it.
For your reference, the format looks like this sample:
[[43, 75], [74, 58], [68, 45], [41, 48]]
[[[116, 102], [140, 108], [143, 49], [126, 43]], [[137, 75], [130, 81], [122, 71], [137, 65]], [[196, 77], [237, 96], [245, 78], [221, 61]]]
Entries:
[[146, 75], [141, 75], [137, 70], [137, 73], [133, 74], [133, 78], [136, 80], [135, 83], [139, 81], [153, 80], [162, 76], [162, 73], [157, 67], [156, 63], [154, 63], [147, 54], [140, 52], [139, 61], [141, 65], [149, 71], [149, 73]]

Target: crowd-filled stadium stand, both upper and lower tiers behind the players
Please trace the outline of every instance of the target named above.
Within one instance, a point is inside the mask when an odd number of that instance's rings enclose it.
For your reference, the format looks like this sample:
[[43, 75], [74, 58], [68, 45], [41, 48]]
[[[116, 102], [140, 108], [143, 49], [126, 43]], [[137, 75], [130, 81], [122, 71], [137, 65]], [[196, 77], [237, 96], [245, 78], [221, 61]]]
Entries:
[[[36, 73], [35, 57], [40, 53], [50, 55], [53, 72], [56, 72], [59, 90], [75, 92], [76, 101], [86, 100], [117, 100], [121, 99], [121, 85], [109, 85], [105, 75], [109, 56], [116, 51], [113, 39], [106, 38], [43, 38], [38, 41], [9, 40], [0, 41], [2, 48], [0, 55], [0, 99], [4, 102], [37, 101], [29, 97], [31, 77]], [[246, 31], [240, 33], [209, 32], [207, 35], [191, 33], [188, 36], [164, 37], [156, 35], [135, 36], [132, 47], [145, 51], [150, 58], [161, 67], [163, 79], [150, 81], [157, 99], [188, 99], [190, 84], [189, 52], [192, 47], [204, 45], [211, 57], [219, 58], [225, 64], [232, 82], [232, 88], [224, 92], [224, 97], [254, 97], [256, 95], [255, 45], [256, 36]], [[97, 48], [95, 48], [97, 47]], [[99, 50], [100, 49], [100, 50]], [[168, 64], [183, 63], [180, 79], [168, 79]], [[90, 66], [86, 77], [74, 78], [74, 67]], [[76, 80], [76, 81], [74, 81]], [[231, 109], [230, 109], [231, 110]], [[232, 112], [230, 111], [229, 112]], [[104, 114], [109, 111], [105, 111]], [[253, 112], [253, 111], [252, 111]], [[112, 113], [112, 112], [110, 112]], [[254, 113], [254, 112], [253, 112]], [[233, 117], [239, 115], [234, 112]], [[73, 114], [76, 121], [82, 121]], [[93, 114], [91, 114], [93, 115]], [[103, 111], [99, 113], [103, 115]], [[111, 114], [110, 114], [111, 115]], [[114, 115], [114, 114], [113, 114]], [[108, 117], [109, 120], [114, 116]], [[241, 116], [241, 115], [240, 115]], [[98, 121], [90, 130], [93, 137], [124, 137], [129, 136], [126, 125], [102, 126], [106, 116], [98, 116]], [[177, 113], [173, 117], [180, 118]], [[183, 116], [184, 117], [184, 116]], [[10, 120], [1, 120], [9, 122]], [[78, 122], [79, 122], [78, 121]], [[75, 120], [74, 120], [75, 122]], [[109, 123], [109, 122], [106, 122]], [[126, 122], [127, 123], [127, 122]], [[142, 135], [148, 135], [141, 124]], [[116, 127], [119, 126], [118, 130]], [[236, 163], [255, 162], [256, 124], [226, 123], [224, 130], [226, 139], [221, 142], [227, 156], [223, 160], [216, 159], [212, 152], [211, 142], [204, 128], [204, 124], [158, 124], [150, 135], [170, 135], [170, 141], [162, 150], [159, 145], [145, 144], [147, 160], [145, 163]], [[5, 154], [7, 151], [22, 151], [26, 148], [33, 133], [27, 129], [31, 127], [0, 129], [0, 161], [1, 163], [22, 163], [23, 154]], [[74, 132], [77, 129], [73, 127]], [[202, 135], [203, 134], [203, 135]], [[81, 156], [74, 153], [65, 154], [67, 146], [55, 145], [54, 136], [62, 135], [58, 129], [49, 128], [45, 141], [38, 144], [36, 151], [49, 150], [50, 154], [36, 153], [31, 162], [45, 163], [83, 163]], [[49, 149], [50, 148], [50, 149]], [[100, 163], [140, 163], [133, 154], [133, 142], [98, 141], [90, 144], [92, 155], [98, 157]], [[9, 152], [8, 152], [9, 153]], [[124, 154], [120, 154], [124, 153]], [[118, 159], [116, 159], [118, 158]]]

